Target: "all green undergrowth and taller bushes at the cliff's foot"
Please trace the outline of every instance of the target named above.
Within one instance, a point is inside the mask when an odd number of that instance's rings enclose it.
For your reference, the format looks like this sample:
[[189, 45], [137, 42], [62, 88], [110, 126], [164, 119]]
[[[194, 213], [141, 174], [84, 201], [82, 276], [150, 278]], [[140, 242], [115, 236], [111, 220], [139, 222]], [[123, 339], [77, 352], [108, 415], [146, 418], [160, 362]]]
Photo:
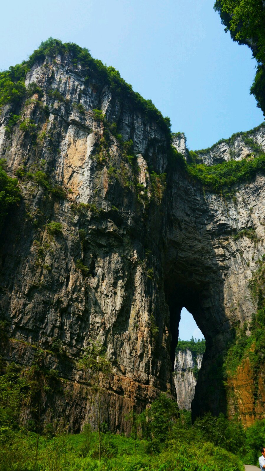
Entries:
[[[145, 413], [127, 418], [128, 425], [134, 423], [131, 438], [107, 432], [105, 424], [101, 462], [98, 433], [91, 432], [89, 424], [82, 434], [68, 435], [67, 427], [57, 424], [56, 429], [47, 423], [40, 435], [36, 414], [35, 422], [20, 427], [21, 404], [33, 398], [39, 387], [34, 372], [36, 375], [36, 365], [19, 374], [12, 364], [0, 376], [0, 471], [211, 471], [218, 469], [220, 461], [224, 471], [243, 471], [240, 459], [229, 452], [242, 451], [244, 446], [239, 424], [209, 416], [191, 426], [190, 414], [179, 414], [176, 402], [165, 394]], [[50, 379], [57, 380], [57, 376]], [[226, 449], [220, 447], [224, 434]]]

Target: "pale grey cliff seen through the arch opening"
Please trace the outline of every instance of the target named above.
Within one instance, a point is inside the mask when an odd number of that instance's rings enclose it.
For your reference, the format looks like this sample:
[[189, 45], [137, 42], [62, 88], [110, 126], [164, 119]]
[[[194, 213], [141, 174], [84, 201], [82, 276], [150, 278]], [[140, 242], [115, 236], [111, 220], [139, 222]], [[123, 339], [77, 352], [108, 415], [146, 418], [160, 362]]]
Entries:
[[193, 357], [189, 349], [178, 350], [174, 365], [174, 385], [177, 393], [177, 401], [180, 409], [191, 410], [191, 401], [194, 398], [197, 377], [194, 369], [201, 368], [202, 355]]

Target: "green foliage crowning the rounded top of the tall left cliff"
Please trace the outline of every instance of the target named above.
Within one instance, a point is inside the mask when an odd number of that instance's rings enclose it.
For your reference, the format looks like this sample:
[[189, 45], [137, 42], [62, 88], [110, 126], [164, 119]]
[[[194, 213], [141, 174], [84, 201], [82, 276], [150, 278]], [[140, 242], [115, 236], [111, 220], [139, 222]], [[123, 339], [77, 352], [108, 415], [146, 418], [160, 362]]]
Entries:
[[[123, 99], [126, 97], [131, 101], [132, 106], [140, 109], [149, 119], [156, 121], [166, 132], [168, 142], [170, 141], [169, 118], [163, 118], [151, 100], [145, 100], [139, 93], [134, 92], [132, 85], [126, 83], [114, 67], [107, 67], [100, 60], [91, 57], [89, 50], [86, 48], [81, 48], [71, 42], [63, 43], [53, 38], [41, 42], [40, 47], [33, 51], [33, 54], [27, 61], [14, 67], [11, 66], [8, 71], [0, 73], [0, 106], [6, 103], [20, 103], [23, 97], [26, 96], [25, 75], [27, 71], [36, 62], [44, 62], [46, 57], [55, 58], [57, 55], [70, 57], [74, 67], [80, 64], [85, 83], [93, 83], [95, 79], [102, 83], [102, 85], [108, 83], [111, 91], [118, 98]], [[36, 89], [36, 87], [33, 87], [30, 91], [32, 93], [41, 93], [41, 90]], [[57, 94], [56, 97], [59, 101], [64, 101], [64, 98], [58, 94], [58, 90], [51, 93]], [[77, 106], [78, 111], [82, 114], [82, 106]]]

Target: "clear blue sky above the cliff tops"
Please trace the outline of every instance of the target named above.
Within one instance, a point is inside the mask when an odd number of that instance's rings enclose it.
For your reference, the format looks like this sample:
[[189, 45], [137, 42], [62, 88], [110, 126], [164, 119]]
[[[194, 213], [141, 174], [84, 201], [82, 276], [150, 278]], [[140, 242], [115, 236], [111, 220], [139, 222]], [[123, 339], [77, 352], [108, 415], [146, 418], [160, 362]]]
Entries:
[[249, 88], [255, 61], [234, 43], [214, 0], [25, 0], [1, 6], [0, 69], [49, 36], [90, 49], [184, 131], [190, 149], [263, 121]]

